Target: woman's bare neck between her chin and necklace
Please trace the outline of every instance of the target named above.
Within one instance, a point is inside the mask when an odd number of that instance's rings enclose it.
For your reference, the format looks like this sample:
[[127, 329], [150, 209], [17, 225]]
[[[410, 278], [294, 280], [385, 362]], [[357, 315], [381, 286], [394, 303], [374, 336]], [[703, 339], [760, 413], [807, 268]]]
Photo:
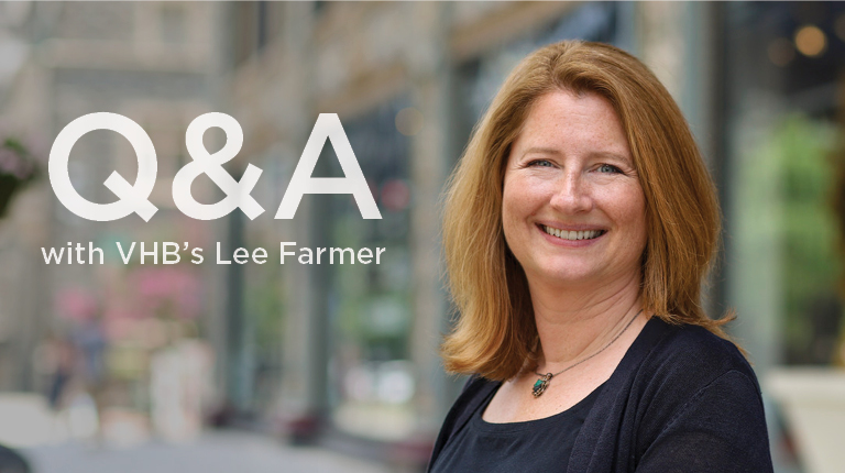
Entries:
[[602, 350], [641, 308], [638, 275], [605, 282], [594, 290], [536, 284], [530, 290], [542, 372], [563, 370]]

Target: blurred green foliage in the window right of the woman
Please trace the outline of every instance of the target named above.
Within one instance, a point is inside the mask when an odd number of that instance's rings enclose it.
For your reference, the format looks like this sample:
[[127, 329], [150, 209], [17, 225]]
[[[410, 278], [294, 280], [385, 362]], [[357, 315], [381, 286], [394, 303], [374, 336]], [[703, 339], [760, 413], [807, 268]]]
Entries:
[[768, 162], [762, 165], [771, 166], [777, 179], [780, 228], [775, 230], [781, 233], [788, 363], [830, 363], [842, 323], [842, 302], [836, 297], [842, 261], [830, 206], [835, 136], [830, 122], [792, 114], [776, 127], [762, 150]]

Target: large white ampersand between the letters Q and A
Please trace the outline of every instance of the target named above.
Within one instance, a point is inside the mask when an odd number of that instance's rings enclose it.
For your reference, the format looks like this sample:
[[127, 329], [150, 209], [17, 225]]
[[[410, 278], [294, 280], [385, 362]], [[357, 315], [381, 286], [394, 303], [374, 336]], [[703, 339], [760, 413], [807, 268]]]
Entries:
[[[217, 127], [226, 132], [226, 144], [217, 153], [209, 154], [202, 144], [202, 135], [209, 128]], [[185, 133], [185, 143], [193, 162], [186, 164], [173, 178], [173, 201], [188, 217], [198, 220], [213, 220], [241, 208], [250, 220], [262, 215], [264, 209], [250, 196], [262, 170], [250, 164], [241, 180], [235, 180], [222, 164], [232, 160], [243, 145], [243, 130], [238, 121], [226, 113], [206, 113], [194, 119]], [[209, 178], [226, 194], [217, 204], [200, 204], [190, 195], [190, 184], [200, 174]]]

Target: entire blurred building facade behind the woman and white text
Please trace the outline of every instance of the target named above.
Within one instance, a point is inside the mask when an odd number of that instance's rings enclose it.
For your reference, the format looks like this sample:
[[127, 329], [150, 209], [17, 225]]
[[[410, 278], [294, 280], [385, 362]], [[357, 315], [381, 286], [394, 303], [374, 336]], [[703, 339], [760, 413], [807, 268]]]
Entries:
[[[303, 438], [321, 426], [336, 440], [430, 441], [461, 384], [437, 355], [453, 317], [442, 288], [440, 193], [507, 72], [564, 38], [632, 52], [683, 109], [725, 215], [705, 304], [713, 317], [736, 308], [731, 332], [758, 373], [836, 362], [845, 221], [839, 3], [37, 3], [9, 28], [23, 32], [30, 55], [6, 88], [3, 124], [40, 130], [48, 150], [85, 113], [132, 118], [158, 153], [153, 197], [162, 210], [149, 224], [135, 216], [100, 224], [78, 221], [46, 183], [21, 196], [0, 222], [6, 388], [36, 387], [34, 369], [19, 360], [68, 324], [54, 322], [67, 318], [68, 305], [91, 292], [108, 305], [122, 297], [97, 293], [108, 282], [144, 277], [45, 266], [41, 246], [190, 241], [209, 258], [216, 242], [228, 251], [262, 246], [270, 264], [209, 261], [179, 266], [185, 274], [146, 275], [199, 287], [196, 308], [179, 306], [196, 327], [175, 330], [195, 330], [212, 348], [217, 404]], [[168, 178], [190, 160], [185, 129], [205, 111], [230, 113], [244, 131], [228, 168], [263, 169], [252, 195], [266, 212], [255, 220], [238, 211], [197, 223], [168, 204]], [[340, 116], [382, 220], [361, 219], [349, 196], [306, 196], [295, 219], [273, 219], [319, 113]], [[108, 144], [102, 133], [79, 142], [85, 167], [72, 176], [90, 187], [83, 195], [105, 200], [99, 183], [114, 168], [131, 176], [134, 161], [125, 143]], [[317, 173], [341, 175], [330, 146]], [[211, 183], [202, 185], [210, 201], [219, 199]], [[278, 265], [282, 241], [387, 251], [380, 265]], [[68, 282], [88, 293], [61, 296]]]

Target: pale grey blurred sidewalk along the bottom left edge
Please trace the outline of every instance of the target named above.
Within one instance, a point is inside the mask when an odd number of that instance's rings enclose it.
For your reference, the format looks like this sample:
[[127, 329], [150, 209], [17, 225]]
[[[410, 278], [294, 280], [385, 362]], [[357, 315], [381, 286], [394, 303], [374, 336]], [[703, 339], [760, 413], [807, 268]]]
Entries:
[[21, 450], [33, 473], [387, 473], [381, 466], [320, 448], [288, 447], [266, 436], [209, 431], [185, 444], [149, 442], [129, 449], [79, 443]]

